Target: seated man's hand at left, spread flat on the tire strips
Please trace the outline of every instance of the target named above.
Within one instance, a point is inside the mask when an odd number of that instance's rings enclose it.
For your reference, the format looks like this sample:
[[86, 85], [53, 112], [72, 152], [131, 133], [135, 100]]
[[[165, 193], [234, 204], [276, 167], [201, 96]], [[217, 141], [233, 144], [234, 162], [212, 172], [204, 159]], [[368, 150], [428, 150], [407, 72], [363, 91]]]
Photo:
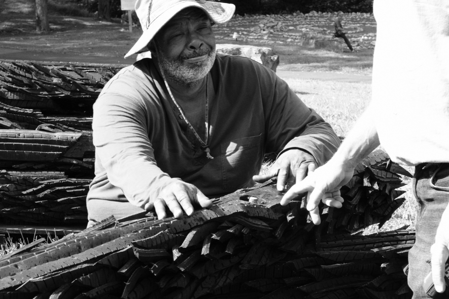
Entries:
[[183, 215], [183, 210], [189, 216], [193, 214], [195, 209], [192, 204], [198, 208], [209, 208], [213, 203], [194, 185], [173, 179], [165, 185], [158, 198], [154, 202], [147, 203], [144, 208], [147, 211], [154, 208], [158, 219], [163, 219], [167, 217], [165, 208], [168, 207], [175, 218], [179, 219]]

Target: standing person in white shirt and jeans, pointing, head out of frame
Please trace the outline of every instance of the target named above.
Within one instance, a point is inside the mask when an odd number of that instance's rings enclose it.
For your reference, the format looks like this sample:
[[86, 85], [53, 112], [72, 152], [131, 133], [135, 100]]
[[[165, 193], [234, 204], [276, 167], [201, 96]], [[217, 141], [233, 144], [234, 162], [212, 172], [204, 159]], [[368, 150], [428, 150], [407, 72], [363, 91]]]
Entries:
[[429, 297], [423, 281], [430, 272], [439, 297], [448, 298], [447, 291], [441, 293], [449, 256], [449, 2], [375, 0], [374, 15], [371, 103], [334, 157], [294, 185], [281, 203], [311, 192], [307, 209], [320, 223], [319, 201], [341, 207], [340, 186], [382, 143], [392, 160], [416, 166], [413, 193], [420, 209], [408, 258], [413, 298]]

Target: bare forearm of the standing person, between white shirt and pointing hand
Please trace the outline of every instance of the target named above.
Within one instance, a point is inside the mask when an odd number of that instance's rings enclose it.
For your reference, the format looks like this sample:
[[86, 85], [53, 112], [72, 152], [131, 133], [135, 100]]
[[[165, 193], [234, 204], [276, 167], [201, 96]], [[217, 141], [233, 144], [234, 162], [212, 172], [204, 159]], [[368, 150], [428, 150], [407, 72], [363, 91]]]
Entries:
[[331, 161], [343, 165], [348, 169], [355, 168], [379, 144], [379, 137], [374, 120], [372, 119], [371, 108], [368, 106], [353, 129], [348, 133], [348, 136], [344, 139]]

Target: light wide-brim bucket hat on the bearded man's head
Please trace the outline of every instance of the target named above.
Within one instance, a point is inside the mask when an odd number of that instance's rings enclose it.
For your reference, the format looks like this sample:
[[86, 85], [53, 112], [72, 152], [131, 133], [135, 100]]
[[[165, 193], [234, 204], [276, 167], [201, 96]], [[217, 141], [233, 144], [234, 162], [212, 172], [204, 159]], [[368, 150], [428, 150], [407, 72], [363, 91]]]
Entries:
[[126, 53], [125, 58], [132, 54], [148, 51], [147, 45], [154, 35], [177, 13], [188, 7], [202, 9], [209, 18], [217, 24], [229, 21], [235, 11], [235, 6], [206, 0], [137, 0], [135, 13], [141, 22], [142, 36]]

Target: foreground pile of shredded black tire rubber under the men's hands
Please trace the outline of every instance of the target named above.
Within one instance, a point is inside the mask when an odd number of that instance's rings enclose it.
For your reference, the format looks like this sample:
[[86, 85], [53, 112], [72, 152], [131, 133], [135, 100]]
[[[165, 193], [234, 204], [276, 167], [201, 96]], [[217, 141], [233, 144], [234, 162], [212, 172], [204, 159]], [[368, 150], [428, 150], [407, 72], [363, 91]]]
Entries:
[[0, 297], [410, 298], [404, 272], [415, 233], [353, 232], [385, 222], [403, 200], [394, 199], [385, 154], [364, 163], [344, 207], [322, 207], [320, 226], [300, 197], [281, 206], [274, 181], [182, 219], [111, 216], [0, 260]]

